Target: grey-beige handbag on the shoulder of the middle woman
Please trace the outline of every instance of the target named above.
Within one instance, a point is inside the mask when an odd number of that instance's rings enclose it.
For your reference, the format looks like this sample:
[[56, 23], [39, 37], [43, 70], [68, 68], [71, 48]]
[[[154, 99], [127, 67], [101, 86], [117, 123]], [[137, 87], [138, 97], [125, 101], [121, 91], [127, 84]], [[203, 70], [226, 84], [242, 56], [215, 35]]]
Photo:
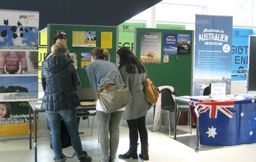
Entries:
[[[109, 77], [111, 73], [115, 73], [115, 77]], [[132, 102], [132, 95], [126, 85], [122, 82], [116, 84], [117, 72], [112, 71], [106, 76], [103, 82], [104, 89], [99, 92], [99, 102], [104, 111], [104, 113], [113, 113], [119, 109], [122, 109], [126, 105]], [[119, 75], [121, 78], [121, 76]], [[106, 87], [108, 80], [113, 80], [114, 85], [111, 87]]]

